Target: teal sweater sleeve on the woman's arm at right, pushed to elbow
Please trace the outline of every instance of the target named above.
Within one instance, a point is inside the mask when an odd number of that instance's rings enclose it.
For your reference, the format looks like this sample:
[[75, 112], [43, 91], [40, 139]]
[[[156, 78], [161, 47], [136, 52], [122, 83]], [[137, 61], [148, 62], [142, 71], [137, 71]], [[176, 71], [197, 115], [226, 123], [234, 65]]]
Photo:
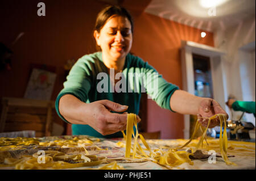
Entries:
[[158, 104], [158, 106], [174, 112], [170, 107], [170, 99], [175, 90], [179, 87], [167, 82], [161, 74], [151, 65], [139, 58], [143, 64], [142, 73], [144, 74], [143, 85], [148, 95]]

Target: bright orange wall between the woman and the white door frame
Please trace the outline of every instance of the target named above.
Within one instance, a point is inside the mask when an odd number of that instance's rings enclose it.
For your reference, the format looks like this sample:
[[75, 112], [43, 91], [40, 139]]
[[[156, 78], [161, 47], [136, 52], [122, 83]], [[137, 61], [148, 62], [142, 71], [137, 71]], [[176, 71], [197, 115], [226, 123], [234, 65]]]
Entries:
[[[135, 19], [132, 52], [154, 66], [166, 81], [182, 89], [181, 40], [213, 46], [213, 33], [204, 39], [201, 31], [147, 13]], [[160, 108], [148, 99], [148, 132], [161, 131], [161, 138], [183, 138], [183, 115]], [[192, 105], [191, 105], [192, 106]]]

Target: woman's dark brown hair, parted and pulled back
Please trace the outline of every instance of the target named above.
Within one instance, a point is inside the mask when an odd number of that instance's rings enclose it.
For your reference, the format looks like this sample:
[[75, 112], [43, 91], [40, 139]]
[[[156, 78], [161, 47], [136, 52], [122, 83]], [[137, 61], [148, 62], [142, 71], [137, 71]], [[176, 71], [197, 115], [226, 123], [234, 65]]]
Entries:
[[127, 18], [131, 23], [131, 32], [133, 33], [133, 18], [131, 18], [130, 13], [121, 6], [107, 6], [103, 10], [101, 10], [96, 19], [94, 30], [97, 32], [101, 31], [101, 28], [104, 27], [106, 21], [113, 15], [122, 16]]

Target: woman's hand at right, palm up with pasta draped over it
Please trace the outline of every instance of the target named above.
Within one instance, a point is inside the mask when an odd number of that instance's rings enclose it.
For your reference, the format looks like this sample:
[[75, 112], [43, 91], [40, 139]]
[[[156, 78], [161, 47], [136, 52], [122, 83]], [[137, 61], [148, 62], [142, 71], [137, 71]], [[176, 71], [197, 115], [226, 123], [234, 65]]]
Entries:
[[[218, 113], [225, 114], [226, 119], [229, 118], [229, 115], [222, 109], [222, 107], [220, 106], [219, 103], [216, 102], [216, 100], [204, 98], [203, 100], [201, 100], [199, 113], [197, 114], [197, 119], [199, 120], [199, 123], [201, 123], [204, 127], [207, 127], [209, 120], [208, 118]], [[218, 119], [218, 117], [210, 121], [208, 128], [213, 128], [217, 125], [220, 125], [220, 120]]]

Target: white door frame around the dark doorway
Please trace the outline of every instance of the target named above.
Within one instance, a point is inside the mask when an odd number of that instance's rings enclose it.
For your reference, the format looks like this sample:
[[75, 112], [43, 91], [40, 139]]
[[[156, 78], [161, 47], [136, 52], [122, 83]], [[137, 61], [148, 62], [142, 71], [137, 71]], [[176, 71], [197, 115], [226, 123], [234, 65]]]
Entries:
[[[181, 40], [181, 73], [183, 90], [195, 95], [195, 80], [193, 74], [193, 57], [192, 54], [199, 54], [210, 58], [210, 70], [212, 73], [213, 99], [220, 103], [225, 111], [229, 112], [225, 106], [225, 100], [228, 99], [226, 87], [226, 74], [223, 56], [224, 51], [195, 43], [193, 41]], [[190, 115], [184, 115], [184, 138], [189, 138]]]

